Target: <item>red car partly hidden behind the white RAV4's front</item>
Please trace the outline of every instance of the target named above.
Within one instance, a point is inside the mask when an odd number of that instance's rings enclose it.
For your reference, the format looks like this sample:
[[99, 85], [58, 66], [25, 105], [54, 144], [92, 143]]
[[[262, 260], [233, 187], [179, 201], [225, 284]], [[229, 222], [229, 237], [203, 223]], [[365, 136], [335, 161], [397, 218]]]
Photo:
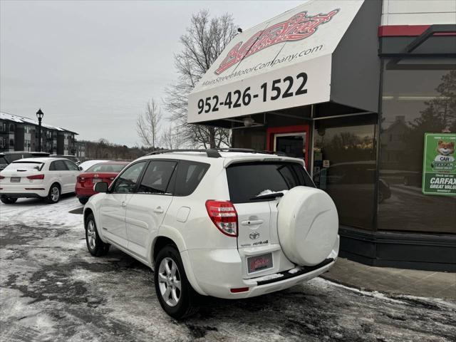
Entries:
[[113, 182], [114, 178], [123, 170], [129, 162], [100, 162], [89, 167], [85, 172], [78, 175], [76, 180], [76, 197], [81, 204], [86, 204], [90, 196], [95, 195], [93, 185], [97, 182]]

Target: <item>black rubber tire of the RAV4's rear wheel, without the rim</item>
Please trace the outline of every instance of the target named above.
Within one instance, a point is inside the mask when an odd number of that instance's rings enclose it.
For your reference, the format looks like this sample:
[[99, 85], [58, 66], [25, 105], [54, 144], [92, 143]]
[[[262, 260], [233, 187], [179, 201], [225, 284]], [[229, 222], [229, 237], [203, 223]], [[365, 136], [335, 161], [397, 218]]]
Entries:
[[[162, 281], [159, 281], [160, 265], [162, 264], [162, 261], [164, 259], [167, 259], [168, 261], [172, 260], [172, 262], [174, 262], [174, 265], [177, 266], [177, 271], [175, 272], [174, 276], [175, 279], [173, 281], [174, 284], [176, 284], [177, 281], [180, 281], [181, 288], [180, 291], [178, 291], [179, 299], [177, 301], [177, 304], [175, 304], [174, 306], [167, 303], [168, 299], [170, 299], [170, 296], [172, 296], [172, 294], [170, 294], [168, 298], [165, 298], [162, 294], [162, 289], [165, 290], [168, 289], [168, 287], [172, 288], [172, 284], [166, 284], [164, 282], [164, 279], [162, 278]], [[166, 261], [164, 262], [166, 263]], [[162, 276], [164, 275], [165, 274], [162, 274]], [[171, 280], [167, 279], [167, 281]], [[162, 306], [162, 309], [172, 318], [179, 320], [188, 317], [192, 314], [195, 314], [195, 312], [198, 311], [198, 306], [196, 305], [197, 293], [192, 288], [192, 285], [190, 285], [187, 279], [187, 275], [185, 274], [185, 269], [182, 264], [182, 259], [180, 258], [179, 251], [177, 251], [177, 249], [172, 245], [167, 245], [163, 247], [160, 250], [160, 252], [158, 252], [157, 259], [155, 259], [154, 284], [158, 301], [160, 301], [160, 306]], [[160, 286], [162, 286], [161, 289]], [[170, 292], [172, 292], [172, 290]]]

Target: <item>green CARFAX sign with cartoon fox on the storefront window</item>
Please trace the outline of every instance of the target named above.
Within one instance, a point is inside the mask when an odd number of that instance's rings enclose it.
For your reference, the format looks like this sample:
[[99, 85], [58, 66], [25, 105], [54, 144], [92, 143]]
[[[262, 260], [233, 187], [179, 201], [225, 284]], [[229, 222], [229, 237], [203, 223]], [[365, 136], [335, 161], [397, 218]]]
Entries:
[[425, 133], [423, 194], [456, 196], [455, 133]]

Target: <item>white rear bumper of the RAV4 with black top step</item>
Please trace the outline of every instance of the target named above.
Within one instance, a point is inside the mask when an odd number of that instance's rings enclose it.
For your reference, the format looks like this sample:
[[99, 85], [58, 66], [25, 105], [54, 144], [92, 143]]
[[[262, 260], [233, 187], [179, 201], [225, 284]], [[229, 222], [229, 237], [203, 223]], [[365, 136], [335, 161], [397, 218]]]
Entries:
[[[338, 240], [326, 260], [316, 266], [300, 266], [293, 271], [281, 271], [275, 274], [243, 279], [242, 259], [237, 249], [192, 249], [183, 252], [182, 257], [189, 257], [192, 274], [189, 279], [197, 282], [195, 289], [201, 294], [224, 298], [241, 299], [269, 292], [281, 291], [307, 281], [326, 272], [336, 262]], [[232, 293], [231, 289], [248, 288], [247, 291]]]

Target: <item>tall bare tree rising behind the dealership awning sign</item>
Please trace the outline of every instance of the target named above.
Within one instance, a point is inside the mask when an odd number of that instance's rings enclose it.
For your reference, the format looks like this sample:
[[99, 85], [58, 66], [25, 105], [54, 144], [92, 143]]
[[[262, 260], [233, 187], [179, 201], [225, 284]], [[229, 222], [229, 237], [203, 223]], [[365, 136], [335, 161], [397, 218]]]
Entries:
[[187, 32], [180, 37], [182, 51], [175, 54], [178, 81], [166, 89], [165, 108], [172, 114], [183, 138], [202, 147], [229, 146], [229, 130], [187, 124], [188, 95], [236, 35], [233, 17], [224, 14], [210, 19], [208, 11], [192, 15]]

